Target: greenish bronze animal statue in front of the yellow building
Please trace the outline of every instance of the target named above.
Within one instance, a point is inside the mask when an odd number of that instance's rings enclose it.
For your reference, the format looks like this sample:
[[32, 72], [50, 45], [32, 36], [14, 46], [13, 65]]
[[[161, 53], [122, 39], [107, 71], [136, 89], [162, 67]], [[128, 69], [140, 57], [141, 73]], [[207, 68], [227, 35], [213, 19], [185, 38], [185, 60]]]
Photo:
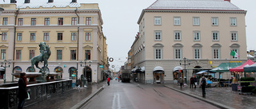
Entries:
[[[40, 50], [40, 54], [38, 56], [34, 56], [31, 59], [31, 68], [34, 68], [34, 65], [35, 65], [38, 69], [40, 69], [39, 72], [46, 72], [46, 68], [48, 66], [47, 60], [49, 59], [49, 56], [50, 56], [49, 45], [46, 45], [46, 42], [40, 42], [39, 50]], [[38, 63], [42, 61], [44, 62], [43, 67], [39, 68]]]

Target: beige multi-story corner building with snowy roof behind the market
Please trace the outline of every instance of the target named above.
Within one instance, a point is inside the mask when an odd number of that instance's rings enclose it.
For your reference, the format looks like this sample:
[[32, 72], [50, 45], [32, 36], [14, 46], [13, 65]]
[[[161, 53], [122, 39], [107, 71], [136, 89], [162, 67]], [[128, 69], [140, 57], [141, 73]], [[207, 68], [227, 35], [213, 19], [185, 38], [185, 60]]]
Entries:
[[172, 83], [178, 75], [187, 80], [223, 62], [246, 61], [245, 15], [230, 0], [157, 0], [142, 10], [131, 46], [131, 61], [144, 70], [140, 80]]

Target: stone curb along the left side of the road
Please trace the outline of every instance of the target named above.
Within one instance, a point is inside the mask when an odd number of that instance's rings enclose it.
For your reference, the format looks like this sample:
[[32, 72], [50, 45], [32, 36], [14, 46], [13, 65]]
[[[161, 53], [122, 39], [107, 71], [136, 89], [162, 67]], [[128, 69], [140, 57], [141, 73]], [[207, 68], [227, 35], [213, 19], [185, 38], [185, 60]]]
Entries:
[[85, 105], [90, 99], [94, 97], [94, 95], [97, 95], [100, 91], [102, 91], [104, 88], [99, 88], [97, 91], [94, 91], [94, 93], [90, 94], [86, 97], [86, 99], [82, 99], [81, 102], [74, 105], [74, 107], [71, 107], [70, 109], [80, 109], [83, 105]]

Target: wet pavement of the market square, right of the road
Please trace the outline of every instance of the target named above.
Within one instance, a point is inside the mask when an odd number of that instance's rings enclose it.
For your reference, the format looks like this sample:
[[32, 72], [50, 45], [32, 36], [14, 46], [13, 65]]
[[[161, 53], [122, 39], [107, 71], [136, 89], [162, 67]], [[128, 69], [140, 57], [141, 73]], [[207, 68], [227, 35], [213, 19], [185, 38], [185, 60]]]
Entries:
[[[202, 89], [198, 87], [190, 88], [189, 86], [185, 86], [181, 90], [177, 84], [166, 84], [166, 86], [202, 97]], [[240, 91], [232, 91], [231, 87], [206, 88], [206, 99], [236, 109], [255, 109], [256, 95], [239, 95], [239, 92]]]

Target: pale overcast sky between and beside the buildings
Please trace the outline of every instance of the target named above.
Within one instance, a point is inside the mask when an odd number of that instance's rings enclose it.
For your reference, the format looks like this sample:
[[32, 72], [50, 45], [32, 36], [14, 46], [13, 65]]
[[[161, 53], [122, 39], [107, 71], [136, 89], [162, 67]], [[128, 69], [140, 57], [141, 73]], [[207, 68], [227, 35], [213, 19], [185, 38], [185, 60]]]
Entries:
[[[88, 2], [88, 0], [84, 0]], [[102, 12], [103, 32], [108, 44], [108, 56], [114, 58], [110, 66], [116, 71], [124, 64], [134, 37], [138, 33], [138, 18], [143, 9], [146, 9], [156, 0], [89, 0], [98, 2]], [[235, 6], [247, 10], [246, 38], [247, 50], [256, 50], [256, 0], [231, 0]], [[119, 60], [120, 59], [120, 60]]]

